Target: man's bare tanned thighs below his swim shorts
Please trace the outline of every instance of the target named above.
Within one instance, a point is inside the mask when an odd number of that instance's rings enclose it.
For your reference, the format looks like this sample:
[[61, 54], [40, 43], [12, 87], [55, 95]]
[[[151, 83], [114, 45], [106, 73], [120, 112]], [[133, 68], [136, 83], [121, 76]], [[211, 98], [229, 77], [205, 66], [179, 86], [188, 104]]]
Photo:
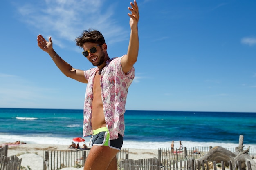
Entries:
[[118, 152], [108, 146], [92, 146], [86, 158], [84, 170], [117, 170]]

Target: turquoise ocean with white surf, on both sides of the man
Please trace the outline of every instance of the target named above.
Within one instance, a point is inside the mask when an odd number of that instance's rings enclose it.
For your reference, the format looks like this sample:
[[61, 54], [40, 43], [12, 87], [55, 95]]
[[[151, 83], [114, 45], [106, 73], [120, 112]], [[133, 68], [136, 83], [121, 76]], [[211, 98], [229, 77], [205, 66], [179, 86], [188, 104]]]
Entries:
[[[256, 113], [126, 110], [123, 148], [222, 146], [256, 148]], [[70, 145], [82, 137], [83, 110], [0, 108], [0, 144]], [[85, 137], [88, 144], [90, 137]]]

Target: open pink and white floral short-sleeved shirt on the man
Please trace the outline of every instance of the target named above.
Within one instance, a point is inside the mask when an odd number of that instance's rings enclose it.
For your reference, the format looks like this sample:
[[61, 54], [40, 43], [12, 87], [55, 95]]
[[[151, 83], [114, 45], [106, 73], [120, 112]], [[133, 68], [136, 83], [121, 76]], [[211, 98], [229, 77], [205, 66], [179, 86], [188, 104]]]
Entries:
[[[134, 68], [125, 74], [122, 71], [121, 58], [116, 57], [108, 60], [107, 65], [101, 71], [101, 98], [105, 122], [110, 132], [110, 139], [117, 139], [118, 134], [124, 136], [124, 112], [128, 87], [134, 79]], [[85, 94], [83, 110], [83, 137], [90, 135], [92, 130], [92, 99], [93, 82], [97, 67], [84, 71], [85, 78], [88, 80]]]

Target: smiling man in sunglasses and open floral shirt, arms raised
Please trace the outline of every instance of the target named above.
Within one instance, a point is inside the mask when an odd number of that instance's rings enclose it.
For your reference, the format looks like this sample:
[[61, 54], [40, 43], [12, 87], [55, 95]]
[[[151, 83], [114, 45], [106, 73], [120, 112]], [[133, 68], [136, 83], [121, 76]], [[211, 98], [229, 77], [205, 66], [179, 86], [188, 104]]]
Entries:
[[137, 2], [130, 3], [130, 41], [127, 55], [110, 59], [107, 45], [99, 31], [84, 31], [76, 38], [83, 55], [94, 65], [87, 71], [73, 68], [65, 62], [49, 42], [38, 35], [38, 46], [47, 52], [56, 66], [67, 76], [88, 83], [84, 105], [83, 136], [92, 134], [92, 148], [84, 170], [117, 170], [116, 154], [121, 150], [124, 135], [124, 112], [128, 87], [134, 79], [133, 65], [139, 51]]

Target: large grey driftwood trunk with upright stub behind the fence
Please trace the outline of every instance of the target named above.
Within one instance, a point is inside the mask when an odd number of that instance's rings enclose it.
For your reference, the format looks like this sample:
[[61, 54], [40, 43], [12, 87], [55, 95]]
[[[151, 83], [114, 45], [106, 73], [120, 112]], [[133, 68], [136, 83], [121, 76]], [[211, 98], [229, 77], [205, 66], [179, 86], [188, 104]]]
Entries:
[[256, 162], [248, 154], [250, 147], [246, 150], [243, 150], [243, 147], [243, 135], [240, 135], [239, 146], [236, 148], [234, 153], [220, 146], [216, 146], [211, 148], [207, 154], [196, 160], [200, 162], [201, 160], [216, 161], [216, 163], [221, 163], [221, 161], [224, 161], [225, 166], [228, 166], [229, 161], [232, 161], [233, 168], [236, 166], [236, 161], [240, 161], [242, 170], [246, 170], [247, 161], [250, 161], [252, 170], [256, 170]]

